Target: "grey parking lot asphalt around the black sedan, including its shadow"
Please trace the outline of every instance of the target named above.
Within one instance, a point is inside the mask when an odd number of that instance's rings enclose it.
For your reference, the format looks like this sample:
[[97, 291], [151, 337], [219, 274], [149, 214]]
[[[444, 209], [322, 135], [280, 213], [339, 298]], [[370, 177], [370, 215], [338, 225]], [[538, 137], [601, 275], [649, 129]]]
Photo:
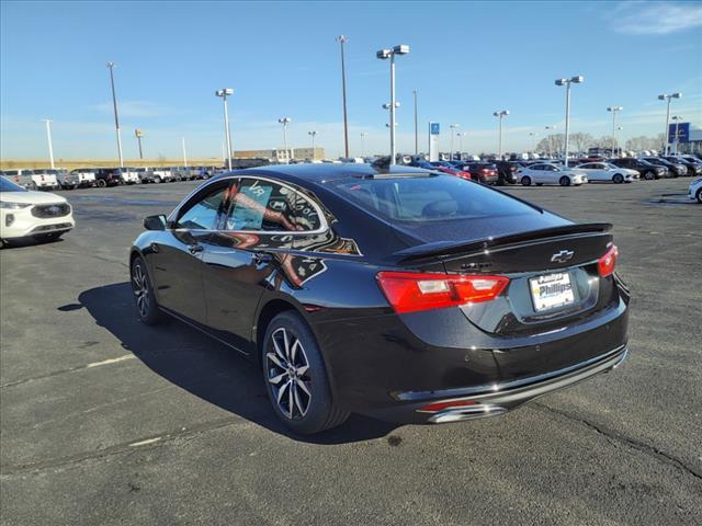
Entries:
[[196, 183], [61, 193], [77, 227], [0, 251], [5, 525], [702, 523], [702, 205], [690, 179], [510, 187], [610, 221], [632, 288], [616, 370], [498, 419], [316, 437], [260, 371], [180, 322], [137, 321], [127, 251]]

